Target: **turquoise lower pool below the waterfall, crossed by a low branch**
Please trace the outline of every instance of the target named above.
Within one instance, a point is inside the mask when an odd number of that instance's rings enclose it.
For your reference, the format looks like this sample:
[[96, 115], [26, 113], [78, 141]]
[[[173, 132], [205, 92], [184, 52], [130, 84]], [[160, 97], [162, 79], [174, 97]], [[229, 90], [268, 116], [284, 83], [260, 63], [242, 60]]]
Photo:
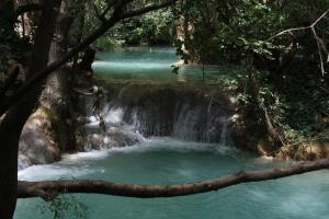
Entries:
[[[254, 158], [219, 143], [154, 138], [140, 145], [64, 155], [59, 163], [31, 166], [20, 180], [100, 178], [140, 184], [172, 184], [213, 178], [239, 170], [286, 165]], [[138, 199], [104, 195], [73, 195], [91, 219], [327, 219], [329, 172], [249, 183], [177, 198]], [[15, 219], [52, 218], [41, 212], [38, 198], [20, 199]], [[64, 218], [76, 218], [72, 209]]]

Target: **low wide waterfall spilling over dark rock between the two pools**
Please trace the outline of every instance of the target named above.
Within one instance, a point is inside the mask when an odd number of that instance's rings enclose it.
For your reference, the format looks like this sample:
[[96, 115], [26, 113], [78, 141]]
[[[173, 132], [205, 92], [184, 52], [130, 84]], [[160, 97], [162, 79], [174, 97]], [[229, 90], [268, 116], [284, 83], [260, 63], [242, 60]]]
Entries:
[[229, 143], [231, 110], [226, 100], [214, 101], [195, 88], [173, 85], [110, 84], [104, 89], [109, 93], [102, 100], [106, 130], [101, 131], [90, 115], [89, 99], [84, 111], [92, 123], [84, 126], [86, 150], [124, 147], [157, 136]]

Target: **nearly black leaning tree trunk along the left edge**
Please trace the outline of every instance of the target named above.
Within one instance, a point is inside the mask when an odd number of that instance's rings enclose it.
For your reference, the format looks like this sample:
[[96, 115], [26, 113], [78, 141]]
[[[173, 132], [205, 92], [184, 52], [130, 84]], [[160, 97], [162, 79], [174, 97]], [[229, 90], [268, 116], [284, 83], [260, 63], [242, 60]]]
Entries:
[[[61, 0], [44, 0], [44, 9], [36, 31], [27, 79], [44, 69]], [[42, 84], [31, 89], [29, 94], [9, 111], [0, 124], [0, 218], [11, 219], [14, 214], [18, 193], [18, 150], [23, 126], [31, 115], [41, 94]]]

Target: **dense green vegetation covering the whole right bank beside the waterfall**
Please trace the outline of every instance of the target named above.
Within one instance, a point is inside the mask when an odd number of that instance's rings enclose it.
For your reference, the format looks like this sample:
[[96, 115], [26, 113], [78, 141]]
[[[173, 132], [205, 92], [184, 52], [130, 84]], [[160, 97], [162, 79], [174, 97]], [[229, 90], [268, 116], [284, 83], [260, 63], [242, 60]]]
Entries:
[[192, 30], [179, 51], [186, 61], [251, 67], [252, 80], [246, 72], [229, 80], [243, 105], [262, 108], [249, 118], [269, 115], [279, 147], [328, 141], [328, 8], [329, 1], [190, 1], [182, 10]]

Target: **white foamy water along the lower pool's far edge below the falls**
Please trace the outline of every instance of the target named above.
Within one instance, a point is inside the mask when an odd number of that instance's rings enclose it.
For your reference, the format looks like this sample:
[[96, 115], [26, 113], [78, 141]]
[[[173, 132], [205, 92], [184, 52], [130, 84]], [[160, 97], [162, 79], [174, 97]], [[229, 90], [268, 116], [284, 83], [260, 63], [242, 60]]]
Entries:
[[[47, 165], [34, 165], [19, 171], [19, 180], [41, 181], [54, 178], [67, 178], [83, 176], [94, 172], [104, 172], [102, 168], [93, 169], [88, 165], [89, 160], [102, 160], [113, 157], [116, 153], [136, 153], [148, 151], [175, 151], [175, 152], [193, 152], [193, 151], [211, 151], [217, 153], [230, 153], [236, 149], [220, 146], [218, 143], [198, 143], [177, 140], [173, 138], [151, 138], [139, 145], [124, 148], [111, 148], [104, 150], [92, 150], [88, 152], [78, 152], [75, 154], [64, 154], [63, 160], [58, 163]], [[77, 165], [79, 164], [79, 165]], [[186, 173], [188, 174], [188, 173]]]

